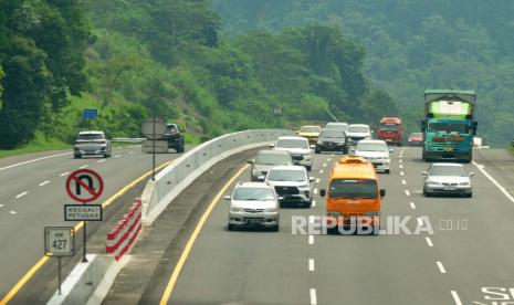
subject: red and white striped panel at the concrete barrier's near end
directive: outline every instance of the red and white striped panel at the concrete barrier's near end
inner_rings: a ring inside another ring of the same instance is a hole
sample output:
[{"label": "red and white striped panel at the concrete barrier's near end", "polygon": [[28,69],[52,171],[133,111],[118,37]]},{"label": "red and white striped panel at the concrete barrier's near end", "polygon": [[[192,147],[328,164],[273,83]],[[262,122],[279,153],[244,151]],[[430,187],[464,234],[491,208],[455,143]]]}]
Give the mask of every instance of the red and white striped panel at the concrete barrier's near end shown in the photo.
[{"label": "red and white striped panel at the concrete barrier's near end", "polygon": [[141,200],[136,199],[123,219],[107,233],[106,252],[114,254],[116,261],[128,252],[141,230]]}]

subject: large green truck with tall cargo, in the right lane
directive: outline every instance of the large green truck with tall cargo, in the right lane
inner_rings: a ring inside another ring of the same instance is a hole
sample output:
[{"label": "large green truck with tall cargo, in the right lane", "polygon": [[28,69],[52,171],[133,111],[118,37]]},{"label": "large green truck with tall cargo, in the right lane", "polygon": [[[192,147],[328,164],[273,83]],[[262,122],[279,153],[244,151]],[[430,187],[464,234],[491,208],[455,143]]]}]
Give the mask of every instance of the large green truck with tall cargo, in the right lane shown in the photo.
[{"label": "large green truck with tall cargo, in the right lane", "polygon": [[473,159],[475,105],[474,91],[424,91],[423,160],[470,162]]}]

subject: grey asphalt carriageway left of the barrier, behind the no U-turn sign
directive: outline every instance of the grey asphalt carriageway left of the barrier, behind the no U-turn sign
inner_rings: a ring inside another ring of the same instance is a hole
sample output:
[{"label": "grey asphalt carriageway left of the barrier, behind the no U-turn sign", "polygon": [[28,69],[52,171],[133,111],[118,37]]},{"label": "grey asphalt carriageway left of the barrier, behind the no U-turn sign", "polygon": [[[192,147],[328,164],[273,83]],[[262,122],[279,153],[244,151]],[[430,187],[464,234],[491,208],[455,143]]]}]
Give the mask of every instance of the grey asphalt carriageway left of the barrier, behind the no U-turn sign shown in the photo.
[{"label": "grey asphalt carriageway left of the barrier, behind the no U-turn sign", "polygon": [[[178,154],[157,155],[157,165]],[[151,169],[151,155],[140,146],[114,147],[111,158],[73,159],[71,150],[0,159],[0,299],[43,256],[43,229],[75,225],[65,222],[63,204],[74,203],[65,192],[70,172],[93,169],[104,179],[105,202]]]}]

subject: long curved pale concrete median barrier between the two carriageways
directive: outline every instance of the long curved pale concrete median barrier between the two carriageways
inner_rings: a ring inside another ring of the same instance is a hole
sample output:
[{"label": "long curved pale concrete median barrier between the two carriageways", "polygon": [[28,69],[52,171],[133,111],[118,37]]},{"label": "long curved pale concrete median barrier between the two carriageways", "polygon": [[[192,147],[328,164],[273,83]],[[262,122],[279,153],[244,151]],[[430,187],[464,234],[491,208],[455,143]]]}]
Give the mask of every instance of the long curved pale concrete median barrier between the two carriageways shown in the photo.
[{"label": "long curved pale concrete median barrier between the two carriageways", "polygon": [[224,135],[187,151],[149,180],[141,196],[143,222],[151,224],[185,188],[214,164],[240,151],[264,146],[289,129],[254,129]]}]

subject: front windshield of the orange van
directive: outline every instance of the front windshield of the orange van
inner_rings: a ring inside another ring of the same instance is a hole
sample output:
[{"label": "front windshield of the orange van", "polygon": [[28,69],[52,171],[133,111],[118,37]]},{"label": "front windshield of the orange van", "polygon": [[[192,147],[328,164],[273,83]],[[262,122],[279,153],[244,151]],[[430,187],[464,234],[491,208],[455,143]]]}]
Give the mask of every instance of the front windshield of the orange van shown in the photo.
[{"label": "front windshield of the orange van", "polygon": [[329,187],[332,198],[377,198],[377,182],[371,179],[335,179]]}]

